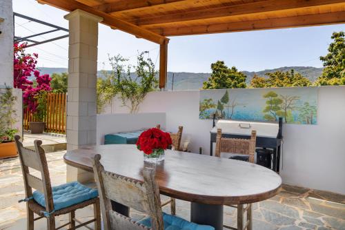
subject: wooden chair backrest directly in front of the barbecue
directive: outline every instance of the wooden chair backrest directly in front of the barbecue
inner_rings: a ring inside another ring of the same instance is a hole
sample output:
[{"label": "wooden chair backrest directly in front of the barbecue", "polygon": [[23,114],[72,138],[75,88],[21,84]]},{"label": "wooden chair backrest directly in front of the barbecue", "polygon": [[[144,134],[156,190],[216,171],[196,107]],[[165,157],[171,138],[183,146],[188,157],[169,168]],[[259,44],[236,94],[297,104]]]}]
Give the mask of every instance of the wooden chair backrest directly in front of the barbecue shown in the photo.
[{"label": "wooden chair backrest directly in front of the barbecue", "polygon": [[256,131],[252,131],[250,139],[221,137],[221,129],[218,128],[215,155],[216,157],[220,157],[221,153],[249,155],[249,162],[254,163],[256,139]]}]

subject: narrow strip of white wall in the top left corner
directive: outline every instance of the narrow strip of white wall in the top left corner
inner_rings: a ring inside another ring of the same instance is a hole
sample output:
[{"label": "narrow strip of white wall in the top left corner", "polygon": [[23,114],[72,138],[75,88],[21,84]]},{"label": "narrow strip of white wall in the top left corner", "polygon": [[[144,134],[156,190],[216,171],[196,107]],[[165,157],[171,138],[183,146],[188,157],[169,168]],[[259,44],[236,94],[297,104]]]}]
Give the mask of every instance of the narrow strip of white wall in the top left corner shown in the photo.
[{"label": "narrow strip of white wall in the top left corner", "polygon": [[[1,22],[1,19],[4,19]],[[12,0],[0,1],[0,88],[13,87],[13,10]]]}]

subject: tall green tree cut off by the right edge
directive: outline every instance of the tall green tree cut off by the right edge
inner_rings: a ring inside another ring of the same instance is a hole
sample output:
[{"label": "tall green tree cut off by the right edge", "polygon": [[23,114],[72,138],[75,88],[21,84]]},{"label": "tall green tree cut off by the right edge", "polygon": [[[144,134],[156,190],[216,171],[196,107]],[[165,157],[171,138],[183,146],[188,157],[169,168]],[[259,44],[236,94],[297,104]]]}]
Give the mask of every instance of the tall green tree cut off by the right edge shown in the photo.
[{"label": "tall green tree cut off by the right edge", "polygon": [[345,84],[345,35],[344,31],[333,32],[333,42],[328,54],[320,57],[324,62],[322,75],[316,80],[317,86],[339,86]]}]

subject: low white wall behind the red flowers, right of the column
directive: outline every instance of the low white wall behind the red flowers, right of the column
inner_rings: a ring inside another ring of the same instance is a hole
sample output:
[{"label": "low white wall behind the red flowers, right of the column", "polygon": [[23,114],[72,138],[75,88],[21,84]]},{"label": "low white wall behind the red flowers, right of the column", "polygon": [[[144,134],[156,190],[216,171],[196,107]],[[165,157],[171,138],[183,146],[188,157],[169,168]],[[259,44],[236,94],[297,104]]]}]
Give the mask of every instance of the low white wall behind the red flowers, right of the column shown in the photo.
[{"label": "low white wall behind the red flowers, right of the column", "polygon": [[165,113],[106,114],[97,115],[97,144],[104,143],[104,135],[126,131],[138,131],[143,128],[166,127]]}]

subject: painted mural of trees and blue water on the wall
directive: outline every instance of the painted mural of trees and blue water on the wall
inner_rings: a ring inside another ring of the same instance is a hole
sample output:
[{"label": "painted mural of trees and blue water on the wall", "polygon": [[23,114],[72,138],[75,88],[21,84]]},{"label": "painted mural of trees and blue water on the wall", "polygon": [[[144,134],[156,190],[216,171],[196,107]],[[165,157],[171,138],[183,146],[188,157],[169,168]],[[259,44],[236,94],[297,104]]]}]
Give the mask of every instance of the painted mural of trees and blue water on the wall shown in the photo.
[{"label": "painted mural of trees and blue water on the wall", "polygon": [[200,90],[199,119],[317,124],[317,87]]}]

